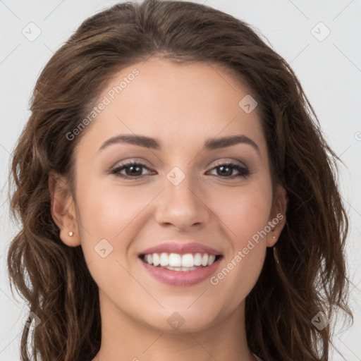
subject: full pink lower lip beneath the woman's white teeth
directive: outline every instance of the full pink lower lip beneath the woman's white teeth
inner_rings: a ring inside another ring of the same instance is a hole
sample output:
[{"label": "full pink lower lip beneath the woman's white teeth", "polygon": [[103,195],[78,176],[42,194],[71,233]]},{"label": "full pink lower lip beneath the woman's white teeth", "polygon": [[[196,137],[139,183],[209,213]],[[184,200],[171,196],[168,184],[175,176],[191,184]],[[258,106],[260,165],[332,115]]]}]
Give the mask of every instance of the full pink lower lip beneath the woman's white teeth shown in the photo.
[{"label": "full pink lower lip beneath the woman's white teeth", "polygon": [[139,260],[154,279],[171,286],[191,286],[212,276],[219,266],[221,259],[222,257],[219,257],[219,259],[210,266],[195,269],[193,271],[172,271],[171,269],[166,269],[164,267],[153,266],[142,261],[142,259]]}]

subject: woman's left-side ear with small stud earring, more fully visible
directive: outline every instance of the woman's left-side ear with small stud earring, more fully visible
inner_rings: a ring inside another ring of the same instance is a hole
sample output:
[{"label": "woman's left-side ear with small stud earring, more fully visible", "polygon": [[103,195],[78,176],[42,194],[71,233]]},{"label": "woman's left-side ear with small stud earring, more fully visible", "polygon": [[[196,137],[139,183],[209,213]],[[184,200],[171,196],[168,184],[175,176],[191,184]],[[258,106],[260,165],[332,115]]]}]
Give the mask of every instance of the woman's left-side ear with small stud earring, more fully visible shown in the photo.
[{"label": "woman's left-side ear with small stud earring, more fully visible", "polygon": [[[51,196],[51,216],[60,229],[60,238],[66,245],[80,245],[78,221],[76,221],[75,203],[71,188],[64,176],[49,173],[49,191]],[[69,235],[73,232],[73,235]]]}]

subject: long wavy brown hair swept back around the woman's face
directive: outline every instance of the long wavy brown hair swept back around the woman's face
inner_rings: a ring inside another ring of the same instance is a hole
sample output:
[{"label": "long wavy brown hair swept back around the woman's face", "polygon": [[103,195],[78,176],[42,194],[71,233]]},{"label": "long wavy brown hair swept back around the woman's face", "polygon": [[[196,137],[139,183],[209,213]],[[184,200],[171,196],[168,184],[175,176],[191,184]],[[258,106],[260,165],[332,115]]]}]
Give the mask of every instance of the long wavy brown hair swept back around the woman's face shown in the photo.
[{"label": "long wavy brown hair swept back around the woman's face", "polygon": [[[348,216],[338,192],[340,161],[288,63],[247,23],[209,6],[147,0],[116,4],[87,18],[44,67],[31,116],[12,158],[11,211],[22,228],[8,250],[8,273],[41,322],[24,326],[21,360],[90,360],[100,347],[97,284],[82,248],[59,238],[51,217],[49,173],[73,180],[78,126],[121,68],[159,54],[216,63],[252,89],[262,114],[273,185],[288,192],[286,226],[267,248],[246,300],[247,342],[264,361],[329,360],[331,324],[347,305],[344,246]],[[86,130],[85,130],[86,131]],[[11,285],[11,291],[13,292]]]}]

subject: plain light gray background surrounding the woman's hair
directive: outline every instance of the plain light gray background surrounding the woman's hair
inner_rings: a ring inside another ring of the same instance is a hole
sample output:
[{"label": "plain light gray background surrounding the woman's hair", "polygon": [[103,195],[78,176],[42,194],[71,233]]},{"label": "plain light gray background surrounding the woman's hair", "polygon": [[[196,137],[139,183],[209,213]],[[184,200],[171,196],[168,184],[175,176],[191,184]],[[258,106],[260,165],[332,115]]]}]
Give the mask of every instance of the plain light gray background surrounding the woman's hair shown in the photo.
[{"label": "plain light gray background surrounding the woman's hair", "polygon": [[[8,244],[16,233],[16,226],[9,223],[6,200],[9,155],[30,115],[32,88],[51,54],[82,20],[116,2],[0,0],[0,361],[20,360],[20,333],[26,311],[23,300],[11,297],[6,273]],[[345,163],[340,169],[340,183],[350,214],[348,266],[353,281],[350,300],[355,323],[336,334],[334,344],[344,358],[334,350],[331,360],[361,360],[361,1],[196,2],[245,20],[267,37],[298,75],[317,112],[326,140]],[[36,34],[34,25],[28,25],[30,22],[41,30],[32,42],[22,33]],[[317,25],[319,22],[331,31],[322,41],[319,39],[327,30]]]}]

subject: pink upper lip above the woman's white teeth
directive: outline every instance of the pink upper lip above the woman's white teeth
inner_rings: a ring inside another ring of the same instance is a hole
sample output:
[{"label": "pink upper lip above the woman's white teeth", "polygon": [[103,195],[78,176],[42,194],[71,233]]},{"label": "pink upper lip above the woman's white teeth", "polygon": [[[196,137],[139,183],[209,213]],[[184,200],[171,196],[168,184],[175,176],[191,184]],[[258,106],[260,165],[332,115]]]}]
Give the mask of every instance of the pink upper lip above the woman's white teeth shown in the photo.
[{"label": "pink upper lip above the woman's white teeth", "polygon": [[180,255],[185,255],[185,253],[207,253],[208,255],[221,255],[221,252],[215,250],[214,248],[208,247],[207,245],[202,245],[201,243],[189,242],[189,243],[176,243],[168,242],[155,245],[153,247],[147,248],[140,253],[140,255],[149,255],[151,253],[178,253]]}]

